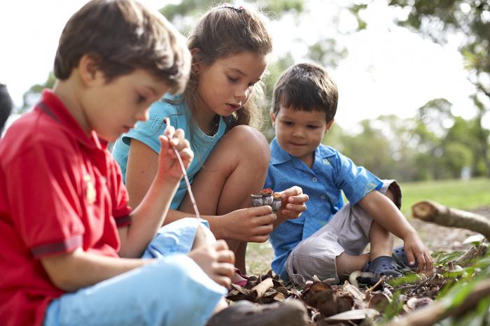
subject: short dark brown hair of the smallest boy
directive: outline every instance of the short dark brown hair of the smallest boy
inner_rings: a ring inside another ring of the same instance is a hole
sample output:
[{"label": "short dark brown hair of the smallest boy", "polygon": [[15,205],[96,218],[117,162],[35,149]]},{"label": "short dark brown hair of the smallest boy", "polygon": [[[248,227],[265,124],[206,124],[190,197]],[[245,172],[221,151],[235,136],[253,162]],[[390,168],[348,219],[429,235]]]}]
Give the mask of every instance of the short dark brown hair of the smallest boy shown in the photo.
[{"label": "short dark brown hair of the smallest boy", "polygon": [[324,111],[327,123],[337,112],[337,85],[323,66],[295,64],[284,71],[276,82],[272,95],[272,112],[281,106],[300,111]]}]

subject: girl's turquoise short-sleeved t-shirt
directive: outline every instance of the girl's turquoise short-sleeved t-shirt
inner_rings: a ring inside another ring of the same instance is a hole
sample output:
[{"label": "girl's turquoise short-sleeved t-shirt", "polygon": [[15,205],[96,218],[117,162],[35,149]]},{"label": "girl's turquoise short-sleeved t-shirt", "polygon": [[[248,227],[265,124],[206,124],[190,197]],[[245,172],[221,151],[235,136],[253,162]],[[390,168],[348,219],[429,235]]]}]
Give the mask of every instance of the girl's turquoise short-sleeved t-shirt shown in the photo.
[{"label": "girl's turquoise short-sleeved t-shirt", "polygon": [[[220,117],[218,132],[214,136],[208,136],[202,130],[195,125],[192,131],[191,141],[191,114],[188,106],[185,103],[181,103],[181,97],[165,96],[166,99],[176,101],[178,104],[170,104],[166,101],[157,101],[153,103],[150,107],[149,118],[146,122],[138,122],[134,129],[131,129],[127,134],[123,134],[114,144],[112,150],[112,155],[118,162],[121,171],[123,172],[123,178],[126,182],[126,168],[127,168],[127,157],[130,152],[131,139],[137,139],[142,143],[145,143],[149,148],[155,150],[156,153],[160,153],[160,141],[158,136],[163,134],[165,130],[165,123],[163,120],[165,118],[170,119],[170,125],[174,126],[175,129],[183,129],[186,134],[186,139],[190,142],[190,148],[194,152],[193,162],[190,163],[187,174],[190,183],[193,183],[194,177],[197,172],[200,171],[202,164],[207,160],[207,157],[213,150],[216,143],[221,139],[226,131],[226,124],[222,117]],[[172,199],[171,209],[177,209],[181,205],[183,198],[186,196],[187,187],[186,180],[182,178],[179,184],[179,189],[177,190],[174,198]]]}]

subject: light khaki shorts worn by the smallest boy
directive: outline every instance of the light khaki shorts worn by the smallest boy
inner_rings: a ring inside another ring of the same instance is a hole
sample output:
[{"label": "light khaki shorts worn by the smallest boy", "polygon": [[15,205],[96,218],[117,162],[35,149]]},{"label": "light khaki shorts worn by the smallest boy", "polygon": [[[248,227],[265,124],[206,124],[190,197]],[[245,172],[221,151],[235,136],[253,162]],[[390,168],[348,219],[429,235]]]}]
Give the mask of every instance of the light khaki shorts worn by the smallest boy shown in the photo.
[{"label": "light khaki shorts worn by the smallest boy", "polygon": [[[378,190],[386,194],[391,190],[395,205],[401,207],[402,193],[395,180],[384,180]],[[304,284],[314,275],[321,280],[335,278],[337,267],[335,258],[341,253],[360,255],[369,243],[372,217],[359,205],[344,205],[327,225],[304,239],[290,253],[286,260],[286,271],[291,281]]]}]

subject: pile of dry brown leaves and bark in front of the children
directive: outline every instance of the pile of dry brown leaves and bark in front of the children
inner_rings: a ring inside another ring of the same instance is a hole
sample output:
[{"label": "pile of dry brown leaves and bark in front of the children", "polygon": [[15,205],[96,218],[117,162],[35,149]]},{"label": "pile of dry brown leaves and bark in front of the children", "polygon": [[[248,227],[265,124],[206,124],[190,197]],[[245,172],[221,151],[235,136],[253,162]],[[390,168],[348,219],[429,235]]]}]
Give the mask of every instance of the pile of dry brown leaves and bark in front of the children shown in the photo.
[{"label": "pile of dry brown leaves and bark in front of the children", "polygon": [[315,277],[304,287],[295,288],[284,285],[278,275],[269,271],[265,275],[251,276],[244,287],[232,285],[227,299],[258,304],[299,299],[309,311],[311,325],[374,325],[382,320],[389,307],[400,306],[401,313],[407,313],[433,302],[435,295],[447,283],[442,274],[447,275],[448,272],[447,268],[437,267],[437,272],[430,277],[412,274],[409,283],[398,282],[393,286],[383,278],[372,288],[357,288],[349,281],[332,285],[332,279],[320,281]]}]

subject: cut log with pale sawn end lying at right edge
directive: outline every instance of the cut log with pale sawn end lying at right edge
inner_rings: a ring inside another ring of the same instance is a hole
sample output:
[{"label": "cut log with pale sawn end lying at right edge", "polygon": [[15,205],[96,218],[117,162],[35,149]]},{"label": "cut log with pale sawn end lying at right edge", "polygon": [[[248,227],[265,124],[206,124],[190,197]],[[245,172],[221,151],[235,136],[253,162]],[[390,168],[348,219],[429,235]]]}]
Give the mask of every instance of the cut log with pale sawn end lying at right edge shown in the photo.
[{"label": "cut log with pale sawn end lying at right edge", "polygon": [[412,215],[426,222],[433,222],[444,227],[461,227],[483,234],[490,239],[490,221],[488,218],[449,208],[435,201],[419,201],[412,206]]}]

